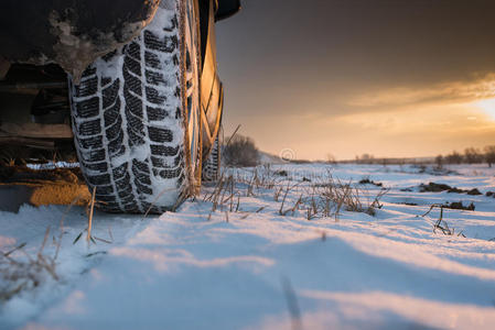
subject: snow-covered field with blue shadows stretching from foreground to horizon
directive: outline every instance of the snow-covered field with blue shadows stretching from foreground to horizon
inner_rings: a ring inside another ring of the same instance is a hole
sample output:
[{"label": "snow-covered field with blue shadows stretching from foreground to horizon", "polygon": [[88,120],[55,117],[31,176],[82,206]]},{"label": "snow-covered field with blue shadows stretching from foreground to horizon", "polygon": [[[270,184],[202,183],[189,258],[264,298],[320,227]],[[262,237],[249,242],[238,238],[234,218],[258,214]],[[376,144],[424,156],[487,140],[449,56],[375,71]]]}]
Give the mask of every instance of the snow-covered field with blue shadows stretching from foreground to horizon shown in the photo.
[{"label": "snow-covered field with blue shadows stretching from foreground to horizon", "polygon": [[0,329],[494,329],[495,169],[449,168],[228,172],[90,243],[80,207],[1,211]]}]

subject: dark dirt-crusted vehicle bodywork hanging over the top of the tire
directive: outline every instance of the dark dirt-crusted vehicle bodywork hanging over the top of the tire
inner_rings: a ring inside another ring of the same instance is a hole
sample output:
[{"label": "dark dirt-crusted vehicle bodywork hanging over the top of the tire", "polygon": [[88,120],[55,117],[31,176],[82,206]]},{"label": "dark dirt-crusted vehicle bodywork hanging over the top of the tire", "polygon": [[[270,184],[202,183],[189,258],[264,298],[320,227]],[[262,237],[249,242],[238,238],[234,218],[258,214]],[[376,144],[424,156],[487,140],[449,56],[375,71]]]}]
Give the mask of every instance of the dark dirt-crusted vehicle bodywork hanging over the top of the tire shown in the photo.
[{"label": "dark dirt-crusted vehicle bodywork hanging over the top of the tire", "polygon": [[2,0],[0,56],[35,65],[57,63],[77,80],[98,56],[139,34],[159,3],[159,0]]}]

